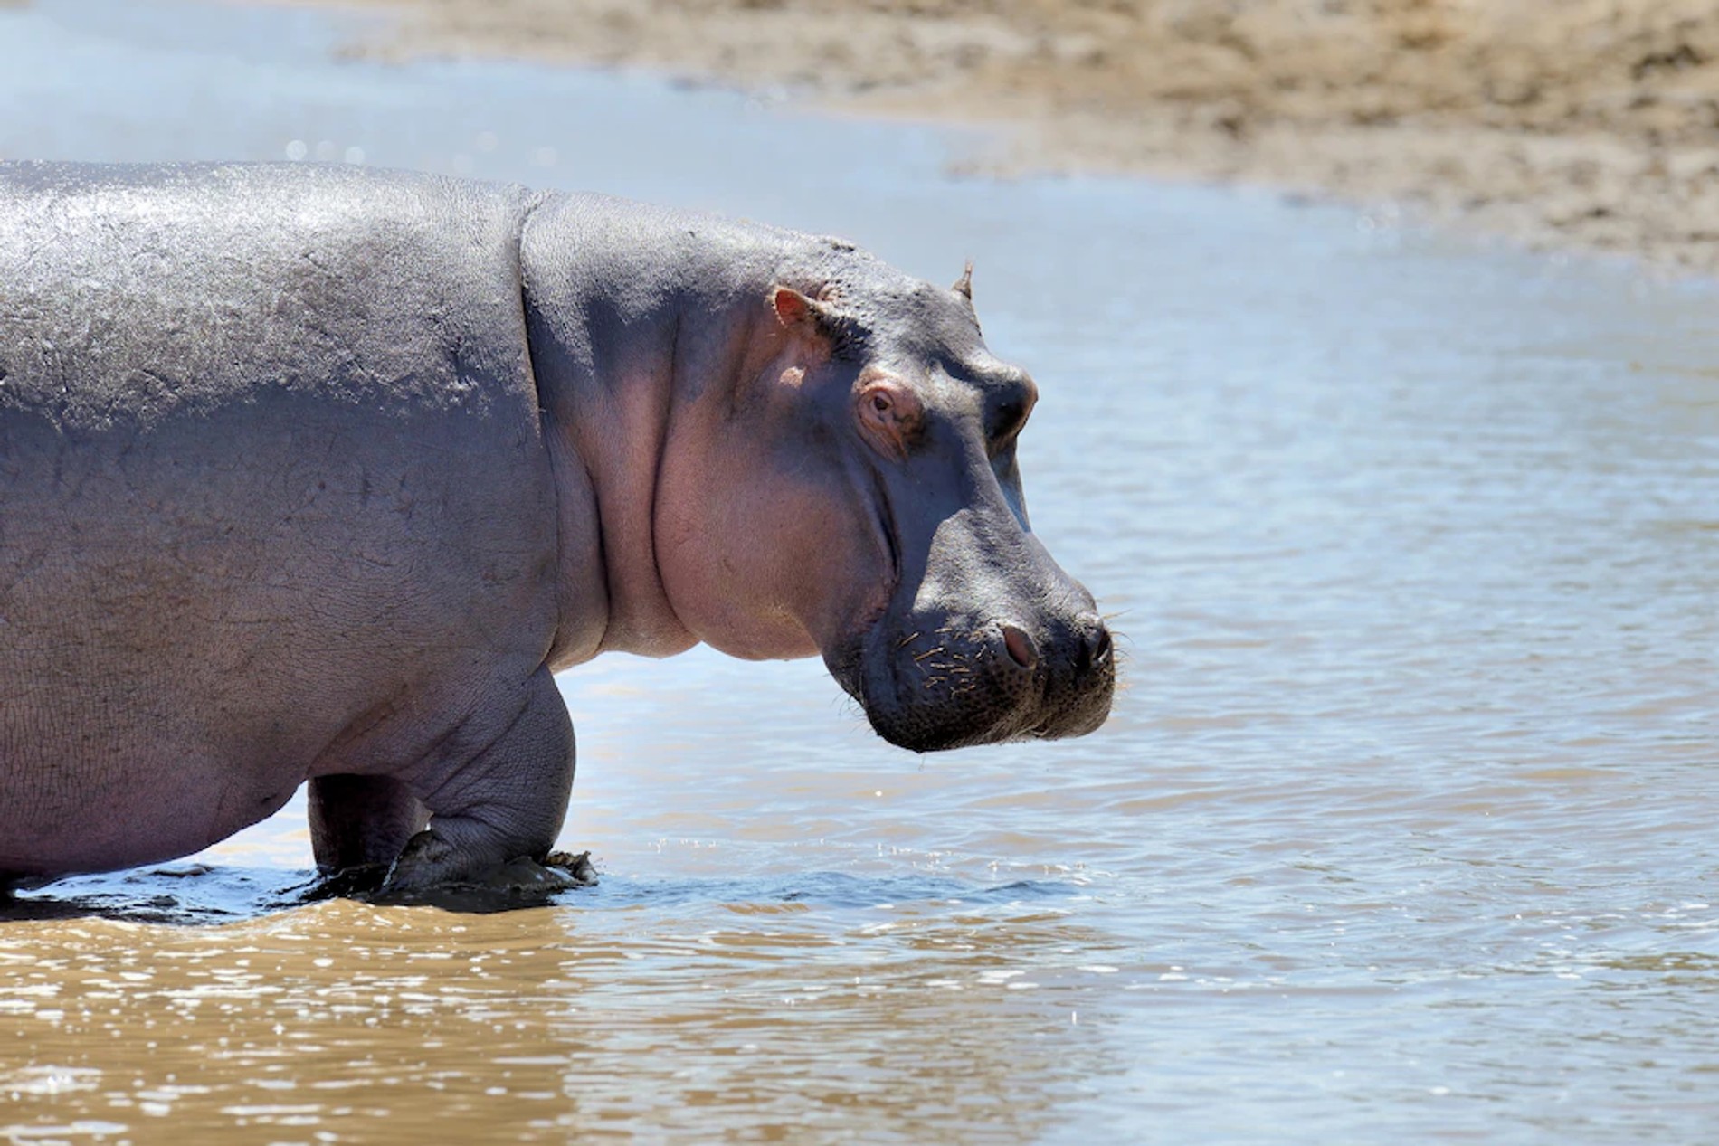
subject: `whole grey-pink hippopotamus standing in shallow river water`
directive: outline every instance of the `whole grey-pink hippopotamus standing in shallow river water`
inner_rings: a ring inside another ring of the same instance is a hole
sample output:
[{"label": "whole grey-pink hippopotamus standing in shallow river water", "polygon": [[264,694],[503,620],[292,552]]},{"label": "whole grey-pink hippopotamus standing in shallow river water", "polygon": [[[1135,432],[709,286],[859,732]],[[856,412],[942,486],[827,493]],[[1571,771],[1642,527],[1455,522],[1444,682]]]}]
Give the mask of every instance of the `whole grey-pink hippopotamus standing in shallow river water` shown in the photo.
[{"label": "whole grey-pink hippopotamus standing in shallow river water", "polygon": [[971,294],[603,196],[0,165],[0,885],[308,782],[323,873],[559,887],[605,651],[822,655],[918,753],[1092,732]]}]

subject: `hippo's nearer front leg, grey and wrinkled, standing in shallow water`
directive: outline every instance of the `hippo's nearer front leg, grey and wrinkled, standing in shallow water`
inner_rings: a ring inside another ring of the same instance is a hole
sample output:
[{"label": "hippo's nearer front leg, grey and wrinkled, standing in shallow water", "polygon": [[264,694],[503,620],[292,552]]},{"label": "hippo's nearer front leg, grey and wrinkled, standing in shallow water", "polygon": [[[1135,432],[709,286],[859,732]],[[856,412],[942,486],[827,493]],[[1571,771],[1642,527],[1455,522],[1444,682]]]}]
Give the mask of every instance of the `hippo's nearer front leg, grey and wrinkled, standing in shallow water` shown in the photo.
[{"label": "hippo's nearer front leg, grey and wrinkled, standing in shallow water", "polygon": [[547,667],[526,682],[524,703],[505,725],[468,722],[447,749],[407,777],[431,813],[430,826],[407,840],[382,899],[540,899],[584,881],[541,863],[572,794],[572,722]]}]

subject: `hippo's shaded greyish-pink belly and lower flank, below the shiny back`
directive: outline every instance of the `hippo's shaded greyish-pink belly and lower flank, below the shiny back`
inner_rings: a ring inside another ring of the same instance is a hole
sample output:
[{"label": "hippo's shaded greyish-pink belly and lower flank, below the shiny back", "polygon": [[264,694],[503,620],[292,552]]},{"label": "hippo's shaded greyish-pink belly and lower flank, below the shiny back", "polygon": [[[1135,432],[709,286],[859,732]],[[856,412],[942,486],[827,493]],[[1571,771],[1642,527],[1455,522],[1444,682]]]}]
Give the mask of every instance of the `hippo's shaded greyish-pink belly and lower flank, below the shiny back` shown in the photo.
[{"label": "hippo's shaded greyish-pink belly and lower flank, below the shiny back", "polygon": [[[282,412],[199,419],[170,447],[158,430],[150,445],[168,466],[119,440],[64,457],[14,419],[0,615],[21,636],[0,643],[12,682],[0,684],[0,871],[180,856],[268,816],[318,771],[413,759],[444,730],[413,723],[414,710],[476,703],[509,658],[499,644],[531,617],[547,624],[541,529],[474,538],[456,522],[500,519],[504,505],[390,464],[363,433],[318,433],[315,411],[296,412],[296,433],[339,460],[318,450],[234,481]],[[493,450],[430,454],[505,469]],[[512,469],[512,497],[529,502],[541,479]]]}]

